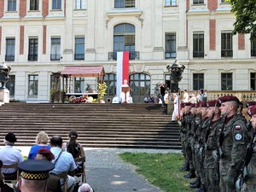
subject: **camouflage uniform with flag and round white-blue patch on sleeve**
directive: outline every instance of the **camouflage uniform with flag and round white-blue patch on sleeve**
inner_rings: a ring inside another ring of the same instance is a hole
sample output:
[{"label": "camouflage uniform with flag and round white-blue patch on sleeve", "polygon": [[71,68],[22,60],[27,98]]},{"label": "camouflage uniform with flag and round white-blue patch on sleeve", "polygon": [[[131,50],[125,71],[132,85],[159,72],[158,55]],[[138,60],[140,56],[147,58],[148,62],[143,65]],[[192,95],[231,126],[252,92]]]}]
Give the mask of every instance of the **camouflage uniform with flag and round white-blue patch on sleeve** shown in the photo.
[{"label": "camouflage uniform with flag and round white-blue patch on sleeve", "polygon": [[238,177],[247,143],[249,143],[249,137],[244,119],[234,114],[234,116],[227,119],[224,127],[224,142],[222,145],[224,158],[219,162],[219,187],[221,192],[236,191],[235,180],[234,184],[229,186],[228,179],[229,177]]}]

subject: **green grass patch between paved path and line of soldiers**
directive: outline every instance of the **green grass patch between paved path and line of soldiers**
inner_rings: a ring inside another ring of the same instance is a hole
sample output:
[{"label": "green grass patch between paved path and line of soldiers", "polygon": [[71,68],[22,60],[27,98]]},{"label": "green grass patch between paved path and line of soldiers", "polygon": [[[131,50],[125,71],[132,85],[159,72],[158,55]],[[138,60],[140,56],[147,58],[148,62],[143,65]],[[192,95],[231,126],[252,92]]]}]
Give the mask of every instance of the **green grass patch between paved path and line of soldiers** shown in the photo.
[{"label": "green grass patch between paved path and line of soldiers", "polygon": [[190,179],[184,178],[186,172],[180,172],[183,166],[182,154],[147,154],[130,153],[119,154],[126,162],[137,166],[136,172],[147,178],[149,183],[158,186],[165,192],[190,192]]}]

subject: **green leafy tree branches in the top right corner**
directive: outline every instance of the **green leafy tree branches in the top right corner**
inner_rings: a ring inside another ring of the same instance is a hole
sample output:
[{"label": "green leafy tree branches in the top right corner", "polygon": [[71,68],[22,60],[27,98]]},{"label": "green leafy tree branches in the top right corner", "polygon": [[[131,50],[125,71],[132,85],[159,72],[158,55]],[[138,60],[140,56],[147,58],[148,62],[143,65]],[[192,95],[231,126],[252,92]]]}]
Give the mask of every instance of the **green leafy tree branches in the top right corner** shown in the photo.
[{"label": "green leafy tree branches in the top right corner", "polygon": [[233,34],[251,34],[256,40],[256,3],[255,0],[229,0],[231,12],[236,15]]}]

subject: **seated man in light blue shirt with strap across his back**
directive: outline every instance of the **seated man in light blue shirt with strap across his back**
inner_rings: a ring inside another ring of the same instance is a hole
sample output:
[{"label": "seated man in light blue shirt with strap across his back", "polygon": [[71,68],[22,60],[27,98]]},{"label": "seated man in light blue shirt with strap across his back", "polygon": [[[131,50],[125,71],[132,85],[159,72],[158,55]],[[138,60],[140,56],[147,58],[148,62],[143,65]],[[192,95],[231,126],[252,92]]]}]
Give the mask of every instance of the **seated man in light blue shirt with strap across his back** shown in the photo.
[{"label": "seated man in light blue shirt with strap across his back", "polygon": [[[77,168],[72,154],[67,151],[62,151],[62,138],[60,136],[53,136],[50,139],[50,151],[55,155],[55,160],[52,162],[55,164],[55,168],[50,172],[55,175],[61,174],[61,172],[68,172],[70,175],[67,175],[67,191],[73,192],[73,186],[75,183],[73,175],[74,170]],[[61,179],[61,188],[63,191],[64,180]]]}]

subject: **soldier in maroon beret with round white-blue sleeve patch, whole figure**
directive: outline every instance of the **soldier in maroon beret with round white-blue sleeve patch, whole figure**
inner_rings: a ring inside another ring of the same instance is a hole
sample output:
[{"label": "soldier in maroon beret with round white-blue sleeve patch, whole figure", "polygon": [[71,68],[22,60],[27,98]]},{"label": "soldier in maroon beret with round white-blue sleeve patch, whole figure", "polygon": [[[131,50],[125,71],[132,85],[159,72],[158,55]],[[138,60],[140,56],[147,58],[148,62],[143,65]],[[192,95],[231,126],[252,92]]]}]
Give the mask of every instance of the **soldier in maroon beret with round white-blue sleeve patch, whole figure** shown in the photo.
[{"label": "soldier in maroon beret with round white-blue sleeve patch, whole figure", "polygon": [[218,102],[221,104],[221,115],[226,117],[222,130],[224,137],[220,137],[222,143],[219,146],[219,152],[222,152],[219,160],[219,187],[221,192],[233,192],[236,191],[235,180],[241,170],[249,136],[244,119],[237,114],[239,99],[236,96],[221,96]]}]

